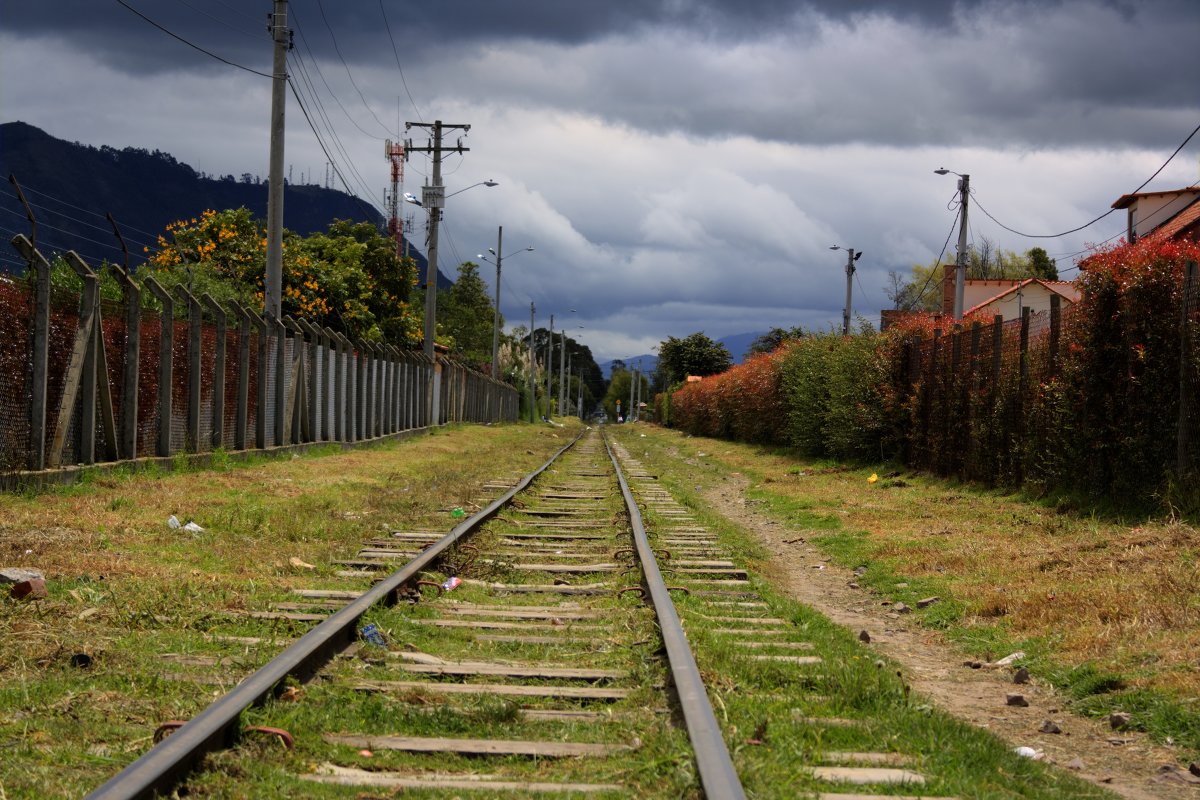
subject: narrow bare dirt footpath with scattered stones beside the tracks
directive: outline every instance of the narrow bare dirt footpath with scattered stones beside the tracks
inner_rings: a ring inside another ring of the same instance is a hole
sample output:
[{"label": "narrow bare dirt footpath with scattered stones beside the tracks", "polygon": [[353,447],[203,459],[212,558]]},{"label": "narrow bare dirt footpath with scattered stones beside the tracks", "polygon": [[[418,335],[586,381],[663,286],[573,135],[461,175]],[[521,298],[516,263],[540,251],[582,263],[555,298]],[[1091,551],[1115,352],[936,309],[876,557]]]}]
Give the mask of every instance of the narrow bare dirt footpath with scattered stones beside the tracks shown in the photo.
[{"label": "narrow bare dirt footpath with scattered stones beside the tracks", "polygon": [[[866,631],[869,646],[899,662],[912,687],[938,706],[1014,747],[1042,751],[1046,760],[1130,800],[1200,799],[1200,783],[1193,783],[1200,778],[1181,770],[1169,747],[1156,745],[1145,734],[1115,732],[1106,723],[1070,714],[1050,687],[1036,680],[1014,685],[1009,669],[964,666],[964,656],[936,631],[907,624],[884,603],[887,597],[850,585],[853,573],[829,564],[820,551],[798,539],[800,534],[749,507],[746,485],[746,479],[734,473],[706,499],[750,530],[774,555],[773,582],[839,625],[856,633]],[[1007,696],[1014,692],[1025,696],[1027,708],[1007,704]],[[1042,733],[1046,721],[1062,733]]]}]

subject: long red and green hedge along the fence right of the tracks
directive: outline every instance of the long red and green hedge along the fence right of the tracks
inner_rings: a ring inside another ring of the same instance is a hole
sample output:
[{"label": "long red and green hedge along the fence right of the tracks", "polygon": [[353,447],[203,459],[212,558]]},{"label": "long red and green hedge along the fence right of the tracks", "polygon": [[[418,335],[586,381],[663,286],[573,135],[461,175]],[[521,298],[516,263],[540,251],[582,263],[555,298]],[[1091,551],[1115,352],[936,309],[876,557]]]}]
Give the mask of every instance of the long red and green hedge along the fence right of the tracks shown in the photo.
[{"label": "long red and green hedge along the fence right of the tracks", "polygon": [[671,397],[678,427],[1007,488],[1174,503],[1200,471],[1200,245],[1099,251],[1074,306],[814,335]]}]

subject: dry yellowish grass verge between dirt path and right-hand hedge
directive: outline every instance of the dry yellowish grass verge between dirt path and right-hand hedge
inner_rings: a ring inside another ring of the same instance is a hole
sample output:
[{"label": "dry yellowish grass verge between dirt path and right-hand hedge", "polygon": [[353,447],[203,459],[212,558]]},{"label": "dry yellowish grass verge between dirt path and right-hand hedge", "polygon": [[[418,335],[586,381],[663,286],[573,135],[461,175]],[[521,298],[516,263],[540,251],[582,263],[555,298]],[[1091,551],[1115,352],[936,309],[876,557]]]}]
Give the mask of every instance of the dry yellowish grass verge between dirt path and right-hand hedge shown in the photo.
[{"label": "dry yellowish grass verge between dirt path and right-hand hedge", "polygon": [[[1016,650],[1079,712],[1200,756],[1200,534],[1175,519],[1112,519],[887,467],[847,468],[642,426],[635,455],[691,498],[731,476],[745,499],[916,608],[964,655]],[[680,470],[678,458],[686,462]],[[876,480],[871,481],[871,475]],[[974,796],[974,795],[972,795]]]}]

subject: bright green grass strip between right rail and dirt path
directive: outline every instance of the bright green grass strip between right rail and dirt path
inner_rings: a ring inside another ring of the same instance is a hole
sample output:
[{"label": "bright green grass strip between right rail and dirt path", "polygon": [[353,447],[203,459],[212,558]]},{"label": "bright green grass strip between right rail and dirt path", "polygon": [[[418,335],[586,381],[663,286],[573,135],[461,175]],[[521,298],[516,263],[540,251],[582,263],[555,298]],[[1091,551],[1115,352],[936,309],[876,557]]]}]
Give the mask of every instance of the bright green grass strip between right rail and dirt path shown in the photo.
[{"label": "bright green grass strip between right rail and dirt path", "polygon": [[[659,432],[635,440],[622,431],[619,438],[643,463],[652,465],[660,482],[690,509],[700,524],[719,534],[731,560],[748,565],[754,594],[767,603],[757,613],[790,622],[788,632],[779,640],[811,648],[766,646],[756,652],[816,655],[822,660],[818,664],[748,660],[737,639],[749,637],[719,632],[725,624],[714,618],[728,612],[714,610],[704,597],[677,597],[738,774],[751,796],[809,796],[810,792],[828,790],[828,786],[806,776],[803,766],[818,764],[826,753],[835,752],[907,757],[910,769],[928,781],[920,789],[923,796],[1046,800],[1111,796],[1062,770],[1020,758],[995,735],[935,709],[910,691],[895,663],[868,650],[850,631],[776,591],[769,578],[763,577],[772,572],[769,553],[746,531],[712,512],[702,497],[726,475],[713,469],[680,469],[673,458],[676,452],[682,455],[686,450],[686,458],[695,462],[697,452],[712,452],[708,447],[713,443],[684,444]],[[725,455],[718,452],[714,458],[724,459]],[[698,461],[712,467],[707,456]],[[748,473],[748,462],[739,462],[738,471]],[[812,509],[820,505],[804,499],[774,499],[769,492],[752,493],[748,500],[786,517],[790,524],[799,523],[798,530],[809,530]],[[646,518],[652,533],[666,522],[653,509],[646,511]],[[827,536],[838,539],[842,534]],[[853,545],[847,552],[853,554],[852,559],[863,554]],[[877,570],[872,579],[886,582],[892,577]],[[821,718],[841,723],[822,723]],[[913,794],[911,787],[877,787],[870,792]]]}]

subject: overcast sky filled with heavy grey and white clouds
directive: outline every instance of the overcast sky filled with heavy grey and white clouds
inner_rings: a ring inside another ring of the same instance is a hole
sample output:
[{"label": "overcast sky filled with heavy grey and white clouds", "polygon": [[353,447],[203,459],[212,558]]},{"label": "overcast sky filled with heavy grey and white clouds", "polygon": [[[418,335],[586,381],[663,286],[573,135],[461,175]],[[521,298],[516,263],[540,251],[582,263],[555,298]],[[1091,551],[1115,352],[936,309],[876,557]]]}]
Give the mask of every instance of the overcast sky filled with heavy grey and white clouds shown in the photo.
[{"label": "overcast sky filled with heavy grey and white clouds", "polygon": [[[127,0],[270,73],[268,0]],[[0,121],[268,173],[270,79],[116,0],[0,0]],[[440,265],[504,227],[510,324],[564,318],[598,359],[666,336],[877,324],[888,271],[942,253],[953,175],[970,239],[1043,246],[1064,277],[1109,210],[1200,125],[1195,0],[293,0],[289,74],[350,188],[383,207],[386,138],[469,124],[445,161]],[[313,96],[316,95],[316,96]],[[326,157],[288,97],[293,180]],[[329,133],[332,128],[332,136]],[[0,143],[2,146],[2,143]],[[1200,136],[1146,191],[1200,180]],[[414,154],[404,190],[430,163]],[[86,198],[74,198],[86,206]],[[97,209],[102,211],[103,209]],[[424,243],[424,212],[416,212]],[[284,210],[286,213],[286,210]],[[944,259],[953,260],[950,239]],[[494,270],[481,270],[491,283]],[[576,312],[569,313],[575,308]],[[577,326],[583,325],[583,330]]]}]

